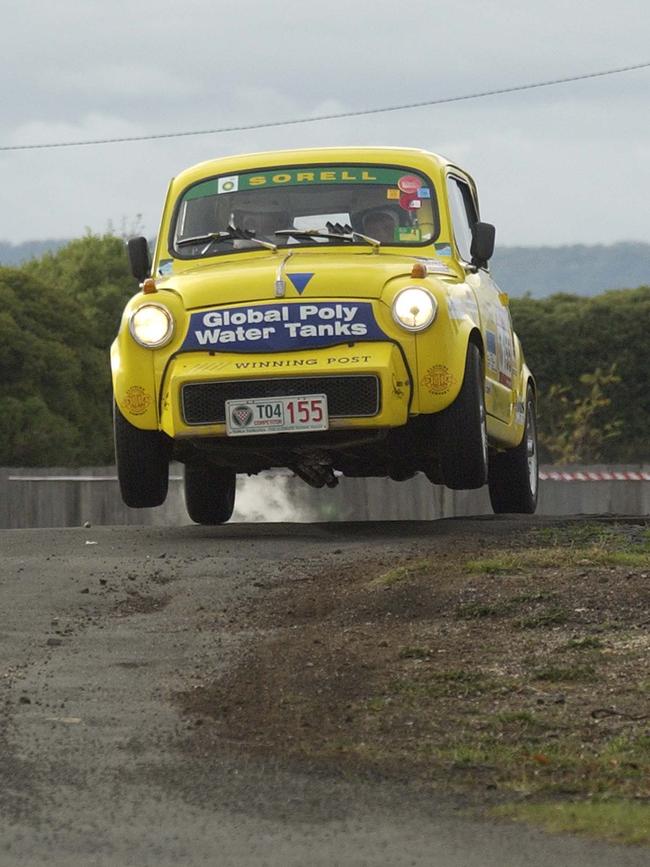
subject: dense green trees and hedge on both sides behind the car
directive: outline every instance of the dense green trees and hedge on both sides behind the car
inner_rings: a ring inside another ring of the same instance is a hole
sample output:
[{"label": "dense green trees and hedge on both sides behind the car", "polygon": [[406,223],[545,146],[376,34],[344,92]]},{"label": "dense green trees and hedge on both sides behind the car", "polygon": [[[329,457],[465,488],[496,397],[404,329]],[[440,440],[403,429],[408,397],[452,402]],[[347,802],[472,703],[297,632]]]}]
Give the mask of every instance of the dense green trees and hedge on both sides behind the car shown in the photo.
[{"label": "dense green trees and hedge on both sides behind the car", "polygon": [[[112,463],[108,351],[135,290],[112,234],[0,267],[0,466]],[[650,461],[650,287],[512,299],[511,313],[538,384],[541,457]]]}]

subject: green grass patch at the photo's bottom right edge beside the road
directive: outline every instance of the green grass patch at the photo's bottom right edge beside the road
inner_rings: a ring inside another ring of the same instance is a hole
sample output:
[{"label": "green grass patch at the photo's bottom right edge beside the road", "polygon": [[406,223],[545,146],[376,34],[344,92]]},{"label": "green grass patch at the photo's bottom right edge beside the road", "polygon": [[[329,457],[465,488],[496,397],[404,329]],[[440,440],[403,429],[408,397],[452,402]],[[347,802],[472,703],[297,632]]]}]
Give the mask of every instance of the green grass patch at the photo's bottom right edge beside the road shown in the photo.
[{"label": "green grass patch at the photo's bottom right edge beside the road", "polygon": [[500,818],[541,825],[551,833],[588,834],[613,843],[650,843],[650,804],[628,800],[504,804]]}]

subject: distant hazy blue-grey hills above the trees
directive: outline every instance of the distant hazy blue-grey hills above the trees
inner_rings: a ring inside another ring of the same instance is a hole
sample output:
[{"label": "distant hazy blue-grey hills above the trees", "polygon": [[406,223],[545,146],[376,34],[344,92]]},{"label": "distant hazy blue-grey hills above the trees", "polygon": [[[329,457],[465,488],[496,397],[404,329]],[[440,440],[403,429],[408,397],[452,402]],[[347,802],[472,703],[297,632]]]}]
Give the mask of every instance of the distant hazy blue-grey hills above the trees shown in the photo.
[{"label": "distant hazy blue-grey hills above the trees", "polygon": [[[20,265],[47,251],[58,250],[66,240],[0,241],[0,265]],[[598,295],[606,289],[650,285],[650,244],[573,244],[566,247],[498,247],[492,260],[492,276],[513,298],[527,292],[544,298],[556,292]]]}]

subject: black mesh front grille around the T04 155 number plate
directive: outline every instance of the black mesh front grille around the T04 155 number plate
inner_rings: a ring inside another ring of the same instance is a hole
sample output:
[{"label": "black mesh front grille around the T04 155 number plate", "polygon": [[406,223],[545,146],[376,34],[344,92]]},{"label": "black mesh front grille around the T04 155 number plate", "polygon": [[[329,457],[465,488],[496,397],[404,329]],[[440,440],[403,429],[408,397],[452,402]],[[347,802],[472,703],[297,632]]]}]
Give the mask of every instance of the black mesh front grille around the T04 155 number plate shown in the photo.
[{"label": "black mesh front grille around the T04 155 number plate", "polygon": [[326,394],[330,418],[372,416],[379,412],[376,376],[296,376],[282,379],[239,379],[195,382],[183,386],[181,401],[186,424],[223,424],[227,400]]}]

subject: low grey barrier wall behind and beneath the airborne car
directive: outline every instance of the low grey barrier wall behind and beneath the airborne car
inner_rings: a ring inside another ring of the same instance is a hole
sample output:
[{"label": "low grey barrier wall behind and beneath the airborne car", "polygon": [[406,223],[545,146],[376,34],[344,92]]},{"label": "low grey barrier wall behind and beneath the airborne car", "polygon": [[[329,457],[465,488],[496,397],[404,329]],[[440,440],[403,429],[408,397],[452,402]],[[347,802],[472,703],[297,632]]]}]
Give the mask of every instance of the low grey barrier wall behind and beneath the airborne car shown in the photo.
[{"label": "low grey barrier wall behind and beneath the airborne car", "polygon": [[[560,478],[540,482],[538,514],[650,515],[649,466],[542,467],[542,475]],[[276,474],[239,478],[233,519],[433,520],[491,513],[487,488],[450,491],[430,484],[422,475],[407,482],[342,478],[334,489],[313,490],[300,479]],[[0,528],[74,527],[86,521],[93,525],[190,523],[182,467],[172,466],[169,496],[157,509],[127,508],[114,467],[0,469]]]}]

